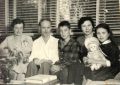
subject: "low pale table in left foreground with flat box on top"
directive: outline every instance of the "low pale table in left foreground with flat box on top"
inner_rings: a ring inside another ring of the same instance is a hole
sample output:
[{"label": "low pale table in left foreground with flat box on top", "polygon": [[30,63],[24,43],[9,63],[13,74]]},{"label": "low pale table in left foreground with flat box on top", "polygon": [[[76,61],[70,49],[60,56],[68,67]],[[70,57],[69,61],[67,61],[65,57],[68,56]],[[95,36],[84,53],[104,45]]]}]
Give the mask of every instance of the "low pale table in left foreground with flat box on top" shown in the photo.
[{"label": "low pale table in left foreground with flat box on top", "polygon": [[[41,82],[43,81],[43,82]],[[11,80],[10,83],[3,83],[0,80],[0,85],[56,85],[58,83],[57,77],[54,75],[35,75],[25,80]]]}]

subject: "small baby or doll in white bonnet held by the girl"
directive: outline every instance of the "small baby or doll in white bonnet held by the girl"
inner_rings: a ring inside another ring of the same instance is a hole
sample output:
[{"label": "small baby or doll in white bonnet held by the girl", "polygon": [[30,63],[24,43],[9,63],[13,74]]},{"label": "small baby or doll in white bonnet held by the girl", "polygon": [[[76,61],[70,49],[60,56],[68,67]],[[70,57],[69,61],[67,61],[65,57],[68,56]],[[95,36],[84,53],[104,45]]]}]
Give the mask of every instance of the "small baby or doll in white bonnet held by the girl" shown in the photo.
[{"label": "small baby or doll in white bonnet held by the girl", "polygon": [[107,66],[110,66],[110,62],[105,58],[105,54],[102,52],[102,50],[99,47],[100,43],[97,38],[91,37],[87,38],[85,40],[85,47],[88,50],[87,57],[89,59],[94,59],[96,62],[90,63],[90,68],[91,70],[98,70],[99,68],[102,67],[101,64],[98,64],[97,61],[106,61]]}]

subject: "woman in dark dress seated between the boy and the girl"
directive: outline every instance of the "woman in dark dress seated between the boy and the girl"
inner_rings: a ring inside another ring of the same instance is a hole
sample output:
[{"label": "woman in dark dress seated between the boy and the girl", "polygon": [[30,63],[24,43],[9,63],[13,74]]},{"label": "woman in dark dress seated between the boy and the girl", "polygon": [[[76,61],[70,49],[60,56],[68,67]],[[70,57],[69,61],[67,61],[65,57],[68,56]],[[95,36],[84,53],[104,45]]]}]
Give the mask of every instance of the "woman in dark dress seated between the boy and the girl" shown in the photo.
[{"label": "woman in dark dress seated between the boy and the girl", "polygon": [[[83,36],[79,36],[77,41],[79,42],[80,47],[80,60],[83,61],[84,58],[87,56],[87,49],[85,47],[85,39],[91,38],[94,36],[94,22],[91,17],[81,17],[78,21],[78,28],[83,32]],[[83,65],[84,68],[84,80],[83,83],[86,82],[86,79],[91,77],[90,68],[86,67],[85,64]]]}]

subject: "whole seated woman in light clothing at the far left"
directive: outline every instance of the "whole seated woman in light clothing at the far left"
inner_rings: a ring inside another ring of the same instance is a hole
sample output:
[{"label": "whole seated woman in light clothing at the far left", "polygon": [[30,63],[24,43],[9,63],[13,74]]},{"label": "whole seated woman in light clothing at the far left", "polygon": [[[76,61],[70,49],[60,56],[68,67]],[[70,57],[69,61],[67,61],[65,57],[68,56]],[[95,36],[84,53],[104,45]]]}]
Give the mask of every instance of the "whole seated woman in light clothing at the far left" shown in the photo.
[{"label": "whole seated woman in light clothing at the far left", "polygon": [[[14,61],[13,63],[13,79],[24,79],[23,76],[25,76],[23,73],[25,72],[25,64],[24,62],[27,62],[28,57],[30,55],[31,49],[32,49],[32,38],[26,35],[23,35],[23,28],[24,28],[24,21],[21,19],[14,19],[11,27],[13,28],[14,34],[11,36],[6,37],[6,39],[0,44],[0,49],[7,52],[7,58],[10,61]],[[22,61],[20,60],[20,58]],[[22,69],[22,70],[18,70]],[[18,72],[20,71],[20,72]],[[20,76],[15,77],[15,74],[22,74]]]}]

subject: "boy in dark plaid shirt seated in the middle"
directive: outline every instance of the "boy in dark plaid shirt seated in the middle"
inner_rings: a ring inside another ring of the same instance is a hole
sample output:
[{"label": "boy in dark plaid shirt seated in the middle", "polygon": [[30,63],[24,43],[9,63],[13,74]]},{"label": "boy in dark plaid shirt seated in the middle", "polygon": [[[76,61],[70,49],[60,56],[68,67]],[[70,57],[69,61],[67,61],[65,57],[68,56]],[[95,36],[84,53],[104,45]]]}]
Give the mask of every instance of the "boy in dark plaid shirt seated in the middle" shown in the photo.
[{"label": "boy in dark plaid shirt seated in the middle", "polygon": [[61,37],[58,41],[59,61],[52,70],[60,70],[58,78],[61,84],[82,85],[83,67],[79,61],[79,43],[70,36],[71,25],[68,21],[60,22],[58,29]]}]

